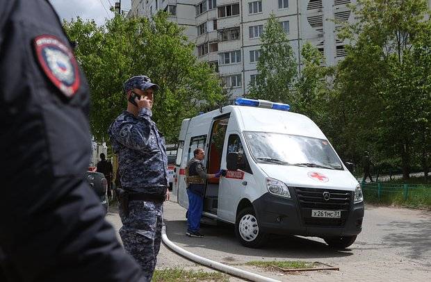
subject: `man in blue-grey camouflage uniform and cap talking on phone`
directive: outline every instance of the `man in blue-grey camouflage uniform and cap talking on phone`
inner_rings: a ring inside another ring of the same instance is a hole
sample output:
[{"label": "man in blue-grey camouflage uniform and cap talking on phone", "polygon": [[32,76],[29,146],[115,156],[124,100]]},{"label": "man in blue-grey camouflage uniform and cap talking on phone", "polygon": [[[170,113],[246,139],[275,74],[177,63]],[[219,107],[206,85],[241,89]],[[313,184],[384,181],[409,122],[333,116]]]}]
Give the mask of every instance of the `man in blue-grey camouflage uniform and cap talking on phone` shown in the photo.
[{"label": "man in blue-grey camouflage uniform and cap talking on phone", "polygon": [[168,192],[168,157],[165,140],[152,121],[154,90],[147,76],[133,76],[124,83],[127,110],[108,129],[118,156],[124,249],[135,258],[151,281],[160,249],[163,201]]}]

